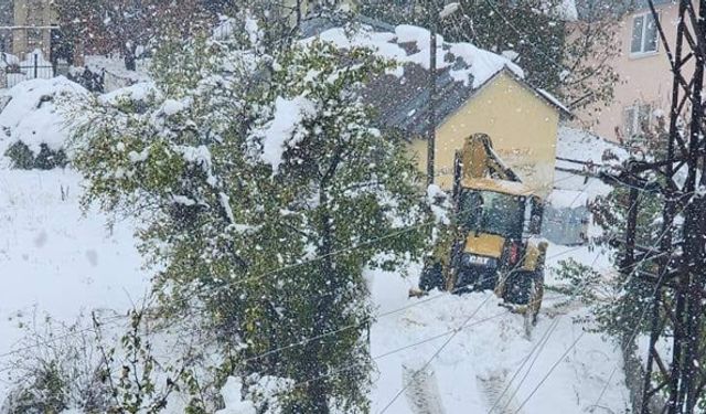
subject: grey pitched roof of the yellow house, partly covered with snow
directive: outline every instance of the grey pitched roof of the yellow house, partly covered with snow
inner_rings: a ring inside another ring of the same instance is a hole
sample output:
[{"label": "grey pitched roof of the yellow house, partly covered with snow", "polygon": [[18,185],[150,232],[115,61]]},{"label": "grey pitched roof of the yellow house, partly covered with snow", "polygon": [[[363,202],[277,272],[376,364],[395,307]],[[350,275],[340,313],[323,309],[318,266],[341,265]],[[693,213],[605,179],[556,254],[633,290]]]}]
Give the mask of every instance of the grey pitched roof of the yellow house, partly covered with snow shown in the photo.
[{"label": "grey pitched roof of the yellow house, partly covered with snow", "polygon": [[[381,127],[403,130],[413,136],[422,135],[428,128],[429,31],[415,25],[393,26],[375,21],[347,26],[335,24],[330,21],[310,24],[307,28],[309,36],[301,42],[309,44],[319,39],[332,42],[340,49],[366,47],[377,56],[397,62],[398,65],[388,74],[366,84],[363,99],[378,113]],[[510,59],[471,43],[449,43],[437,35],[436,53],[437,93],[443,97],[438,99],[436,107],[439,123],[443,123],[475,91],[501,72],[507,72],[524,83],[524,72]],[[547,96],[538,93],[537,96],[553,104]]]}]

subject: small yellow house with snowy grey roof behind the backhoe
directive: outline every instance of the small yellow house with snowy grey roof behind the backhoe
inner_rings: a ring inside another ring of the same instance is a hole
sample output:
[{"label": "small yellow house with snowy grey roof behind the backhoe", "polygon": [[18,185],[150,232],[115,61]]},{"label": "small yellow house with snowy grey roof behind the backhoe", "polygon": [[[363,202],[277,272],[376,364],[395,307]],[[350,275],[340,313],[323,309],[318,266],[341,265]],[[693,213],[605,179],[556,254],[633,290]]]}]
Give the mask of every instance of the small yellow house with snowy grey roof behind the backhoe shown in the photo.
[{"label": "small yellow house with snowy grey roof behind the backhoe", "polygon": [[[382,129],[407,140],[419,169],[427,171],[430,34],[413,25],[388,25],[362,18],[357,29],[329,28],[320,40],[342,49],[364,46],[397,67],[370,82],[363,96],[377,112]],[[437,39],[435,182],[450,190],[456,151],[466,137],[488,134],[495,152],[536,193],[554,187],[559,120],[569,112],[548,93],[524,81],[509,59],[470,43]]]}]

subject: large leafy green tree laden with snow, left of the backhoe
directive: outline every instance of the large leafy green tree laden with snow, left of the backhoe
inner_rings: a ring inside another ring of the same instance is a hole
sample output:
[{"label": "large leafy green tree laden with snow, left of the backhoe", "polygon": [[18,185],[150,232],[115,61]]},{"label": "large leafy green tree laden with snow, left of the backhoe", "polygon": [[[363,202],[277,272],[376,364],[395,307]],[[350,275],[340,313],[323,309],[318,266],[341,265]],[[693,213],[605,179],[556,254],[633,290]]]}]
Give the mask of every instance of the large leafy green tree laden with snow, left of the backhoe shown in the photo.
[{"label": "large leafy green tree laden with snow, left of the backhoe", "polygon": [[232,23],[242,38],[165,45],[153,89],[77,109],[85,202],[146,217],[162,304],[208,316],[225,376],[292,380],[286,413],[365,412],[363,269],[426,242],[416,167],[357,95],[388,64],[319,42],[265,53],[249,18]]}]

